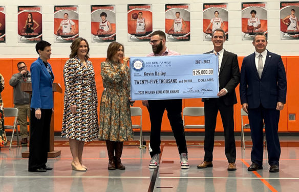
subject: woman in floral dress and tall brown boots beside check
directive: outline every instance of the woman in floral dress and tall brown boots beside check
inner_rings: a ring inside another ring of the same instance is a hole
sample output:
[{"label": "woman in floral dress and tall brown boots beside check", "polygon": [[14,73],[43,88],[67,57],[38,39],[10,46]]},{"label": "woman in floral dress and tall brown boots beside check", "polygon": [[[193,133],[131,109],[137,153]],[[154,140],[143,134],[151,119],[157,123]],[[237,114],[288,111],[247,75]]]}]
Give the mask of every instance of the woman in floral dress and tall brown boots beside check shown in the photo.
[{"label": "woman in floral dress and tall brown boots beside check", "polygon": [[134,101],[130,98],[130,71],[126,66],[129,59],[123,59],[123,52],[123,45],[112,42],[106,61],[101,63],[104,90],[100,104],[99,140],[106,141],[108,170],[125,169],[120,160],[123,141],[133,140],[130,104]]}]

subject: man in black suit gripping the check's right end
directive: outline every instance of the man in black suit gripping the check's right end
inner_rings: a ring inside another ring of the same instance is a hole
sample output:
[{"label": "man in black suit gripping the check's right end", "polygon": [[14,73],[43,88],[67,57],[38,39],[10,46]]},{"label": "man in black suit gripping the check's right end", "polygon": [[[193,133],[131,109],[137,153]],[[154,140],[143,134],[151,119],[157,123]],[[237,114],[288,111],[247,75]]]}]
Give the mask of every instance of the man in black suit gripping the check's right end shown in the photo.
[{"label": "man in black suit gripping the check's right end", "polygon": [[233,105],[237,103],[236,91],[240,82],[238,56],[223,49],[225,32],[216,29],[212,33],[213,51],[219,60],[219,98],[203,99],[205,113],[204,161],[197,168],[212,167],[215,128],[218,111],[220,111],[225,141],[225,156],[228,161],[227,170],[237,170],[236,143],[234,141]]}]

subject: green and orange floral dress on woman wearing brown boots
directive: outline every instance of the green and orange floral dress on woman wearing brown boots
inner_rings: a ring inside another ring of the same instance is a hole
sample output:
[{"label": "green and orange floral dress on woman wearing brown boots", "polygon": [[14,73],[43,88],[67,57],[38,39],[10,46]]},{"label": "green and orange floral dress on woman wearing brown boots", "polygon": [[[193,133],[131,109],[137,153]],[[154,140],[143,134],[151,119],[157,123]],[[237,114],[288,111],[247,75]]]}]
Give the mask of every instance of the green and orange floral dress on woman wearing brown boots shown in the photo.
[{"label": "green and orange floral dress on woman wearing brown boots", "polygon": [[121,63],[102,62],[103,94],[100,103],[99,140],[133,140],[130,109],[130,71]]}]

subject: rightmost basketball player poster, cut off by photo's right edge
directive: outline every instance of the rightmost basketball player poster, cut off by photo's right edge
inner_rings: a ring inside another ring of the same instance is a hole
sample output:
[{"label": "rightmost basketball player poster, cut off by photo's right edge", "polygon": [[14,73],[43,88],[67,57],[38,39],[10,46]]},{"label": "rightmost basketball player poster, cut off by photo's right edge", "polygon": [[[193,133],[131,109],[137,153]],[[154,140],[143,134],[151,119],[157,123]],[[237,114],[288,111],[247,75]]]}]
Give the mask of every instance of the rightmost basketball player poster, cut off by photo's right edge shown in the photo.
[{"label": "rightmost basketball player poster, cut off by photo's right edge", "polygon": [[281,39],[299,39],[299,2],[281,2]]}]

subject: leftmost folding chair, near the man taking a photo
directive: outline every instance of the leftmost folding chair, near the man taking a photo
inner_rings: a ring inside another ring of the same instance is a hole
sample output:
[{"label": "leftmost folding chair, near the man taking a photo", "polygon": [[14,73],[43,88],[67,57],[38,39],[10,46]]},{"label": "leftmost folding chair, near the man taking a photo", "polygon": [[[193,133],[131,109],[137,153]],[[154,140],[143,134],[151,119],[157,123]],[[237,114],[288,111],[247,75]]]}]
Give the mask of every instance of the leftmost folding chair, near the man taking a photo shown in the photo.
[{"label": "leftmost folding chair, near the man taking a photo", "polygon": [[[4,118],[14,117],[13,125],[4,125],[5,129],[12,129],[12,135],[11,135],[9,149],[11,148],[11,146],[20,146],[19,138],[18,138],[17,123],[16,123],[18,109],[17,108],[4,108],[3,111],[4,111]],[[4,122],[6,122],[6,121],[4,121]],[[16,130],[17,145],[11,145],[15,130]]]}]

